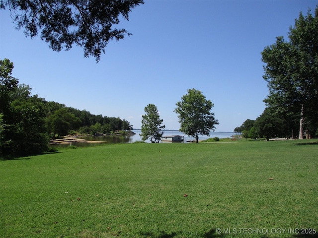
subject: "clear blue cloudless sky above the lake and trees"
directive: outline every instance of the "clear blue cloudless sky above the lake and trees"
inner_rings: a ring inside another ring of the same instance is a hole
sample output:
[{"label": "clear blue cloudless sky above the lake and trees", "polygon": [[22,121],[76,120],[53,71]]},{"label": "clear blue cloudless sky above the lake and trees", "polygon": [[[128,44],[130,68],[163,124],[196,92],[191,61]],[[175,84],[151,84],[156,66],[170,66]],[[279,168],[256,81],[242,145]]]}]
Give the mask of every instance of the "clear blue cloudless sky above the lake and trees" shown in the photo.
[{"label": "clear blue cloudless sky above the lake and trees", "polygon": [[318,0],[145,0],[125,28],[132,36],[106,47],[96,63],[81,48],[53,52],[36,37],[15,30],[0,11],[0,59],[14,63],[12,75],[32,94],[95,115],[119,117],[141,128],[152,103],[167,129],[178,129],[173,112],[187,89],[214,103],[216,131],[233,131],[265,109],[261,52],[277,36],[286,40],[302,11]]}]

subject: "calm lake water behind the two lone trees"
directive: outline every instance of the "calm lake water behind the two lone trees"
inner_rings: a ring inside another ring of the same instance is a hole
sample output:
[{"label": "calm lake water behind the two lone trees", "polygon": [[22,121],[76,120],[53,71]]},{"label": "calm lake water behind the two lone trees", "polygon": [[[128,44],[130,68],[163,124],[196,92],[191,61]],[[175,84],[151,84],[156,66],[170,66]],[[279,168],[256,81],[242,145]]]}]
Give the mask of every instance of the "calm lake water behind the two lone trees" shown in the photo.
[{"label": "calm lake water behind the two lone trees", "polygon": [[[82,137],[85,140],[97,140],[97,141],[107,141],[110,144],[114,144],[114,143],[133,143],[135,141],[141,141],[141,137],[140,137],[140,133],[141,130],[133,130],[133,132],[135,132],[135,135],[126,135],[126,136],[117,136],[117,135],[107,135],[107,136],[87,136],[87,137]],[[206,136],[206,135],[199,135],[199,140],[205,140],[208,138],[213,138],[213,137],[219,137],[219,138],[228,138],[233,135],[235,135],[235,132],[211,132],[210,136]],[[183,135],[184,136],[184,141],[192,141],[195,140],[194,137],[189,137],[185,134],[183,134],[180,131],[174,131],[174,130],[165,130],[163,132],[163,135]],[[151,143],[150,140],[146,140],[145,142],[147,143]],[[74,143],[74,145],[76,145]]]}]

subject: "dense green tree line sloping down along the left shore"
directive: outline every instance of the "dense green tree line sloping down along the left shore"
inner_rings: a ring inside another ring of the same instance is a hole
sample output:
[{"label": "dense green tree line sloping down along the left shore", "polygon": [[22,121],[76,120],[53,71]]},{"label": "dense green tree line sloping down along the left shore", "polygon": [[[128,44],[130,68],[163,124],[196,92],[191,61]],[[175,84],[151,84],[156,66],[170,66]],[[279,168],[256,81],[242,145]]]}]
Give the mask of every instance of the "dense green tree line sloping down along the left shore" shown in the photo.
[{"label": "dense green tree line sloping down along the left shore", "polygon": [[31,95],[31,87],[11,76],[13,63],[0,60],[0,156],[9,158],[42,153],[50,138],[72,132],[111,133],[132,130],[129,121],[93,115],[86,110],[48,102]]}]

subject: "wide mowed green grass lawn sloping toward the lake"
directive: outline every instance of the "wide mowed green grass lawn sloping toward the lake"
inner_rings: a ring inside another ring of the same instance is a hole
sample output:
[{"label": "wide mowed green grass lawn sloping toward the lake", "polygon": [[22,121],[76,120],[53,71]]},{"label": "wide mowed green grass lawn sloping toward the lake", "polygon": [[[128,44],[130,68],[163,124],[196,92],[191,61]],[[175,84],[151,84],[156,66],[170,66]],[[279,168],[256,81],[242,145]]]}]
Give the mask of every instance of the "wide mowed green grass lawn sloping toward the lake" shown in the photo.
[{"label": "wide mowed green grass lawn sloping toward the lake", "polygon": [[318,232],[318,140],[114,144],[1,161],[0,216],[1,238],[302,237]]}]

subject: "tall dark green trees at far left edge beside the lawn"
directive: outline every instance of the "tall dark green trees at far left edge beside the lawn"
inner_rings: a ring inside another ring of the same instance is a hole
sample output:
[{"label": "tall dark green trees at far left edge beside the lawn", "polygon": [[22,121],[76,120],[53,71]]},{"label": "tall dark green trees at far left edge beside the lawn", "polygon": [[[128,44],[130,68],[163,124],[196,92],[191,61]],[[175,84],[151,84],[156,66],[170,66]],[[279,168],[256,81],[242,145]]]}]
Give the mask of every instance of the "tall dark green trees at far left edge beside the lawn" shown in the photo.
[{"label": "tall dark green trees at far left edge beside the lawn", "polygon": [[49,137],[45,128],[43,99],[11,76],[13,63],[0,60],[0,155],[11,158],[42,153]]}]

